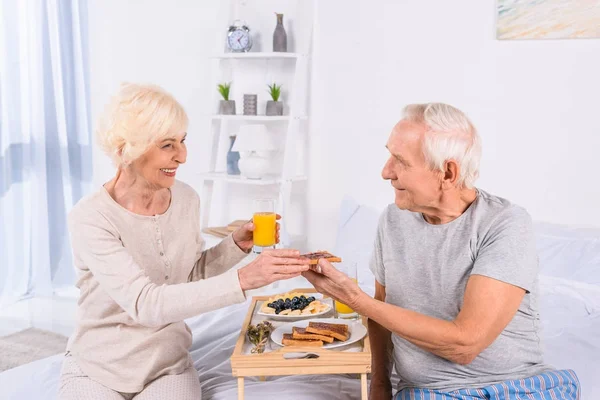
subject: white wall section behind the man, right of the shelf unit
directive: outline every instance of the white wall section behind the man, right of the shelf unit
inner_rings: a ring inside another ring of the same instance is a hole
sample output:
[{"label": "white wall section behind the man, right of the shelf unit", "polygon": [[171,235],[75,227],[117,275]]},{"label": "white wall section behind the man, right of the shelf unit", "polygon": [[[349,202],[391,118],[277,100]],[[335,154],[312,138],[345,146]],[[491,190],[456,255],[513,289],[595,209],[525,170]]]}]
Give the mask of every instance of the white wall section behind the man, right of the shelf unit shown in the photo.
[{"label": "white wall section behind the man, right of the shelf unit", "polygon": [[600,40],[497,41],[492,0],[329,0],[319,11],[312,245],[333,243],[344,193],[393,201],[384,145],[412,102],[467,112],[483,140],[482,189],[535,219],[600,225]]}]

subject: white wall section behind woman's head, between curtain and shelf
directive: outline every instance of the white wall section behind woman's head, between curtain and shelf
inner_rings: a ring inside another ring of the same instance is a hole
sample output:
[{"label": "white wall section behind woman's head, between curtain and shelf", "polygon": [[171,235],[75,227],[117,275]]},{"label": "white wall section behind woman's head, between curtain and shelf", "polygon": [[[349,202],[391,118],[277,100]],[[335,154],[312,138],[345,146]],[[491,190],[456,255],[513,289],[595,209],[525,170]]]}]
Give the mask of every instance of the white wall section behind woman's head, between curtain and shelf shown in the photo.
[{"label": "white wall section behind woman's head, between curtain and shelf", "polygon": [[[176,4],[176,7],[171,4]],[[97,122],[104,105],[121,82],[153,83],[170,91],[190,114],[190,132],[201,132],[214,90],[206,79],[214,50],[217,1],[91,0],[90,65],[92,118]],[[199,134],[188,144],[201,153],[189,157],[188,177],[207,151]],[[185,169],[183,174],[186,173]],[[96,147],[94,184],[112,178],[109,159]]]}]

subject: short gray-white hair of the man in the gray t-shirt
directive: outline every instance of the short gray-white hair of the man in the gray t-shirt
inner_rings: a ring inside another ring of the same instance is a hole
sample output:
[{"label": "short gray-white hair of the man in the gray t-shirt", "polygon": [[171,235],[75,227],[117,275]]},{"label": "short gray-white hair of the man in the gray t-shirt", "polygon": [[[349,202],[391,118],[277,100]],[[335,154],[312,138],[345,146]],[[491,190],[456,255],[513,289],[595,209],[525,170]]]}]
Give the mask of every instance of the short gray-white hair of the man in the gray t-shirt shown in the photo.
[{"label": "short gray-white hair of the man in the gray t-shirt", "polygon": [[403,114],[403,119],[427,127],[423,154],[429,167],[443,172],[445,162],[454,160],[460,166],[459,186],[473,188],[479,177],[481,139],[469,118],[443,103],[409,104]]}]

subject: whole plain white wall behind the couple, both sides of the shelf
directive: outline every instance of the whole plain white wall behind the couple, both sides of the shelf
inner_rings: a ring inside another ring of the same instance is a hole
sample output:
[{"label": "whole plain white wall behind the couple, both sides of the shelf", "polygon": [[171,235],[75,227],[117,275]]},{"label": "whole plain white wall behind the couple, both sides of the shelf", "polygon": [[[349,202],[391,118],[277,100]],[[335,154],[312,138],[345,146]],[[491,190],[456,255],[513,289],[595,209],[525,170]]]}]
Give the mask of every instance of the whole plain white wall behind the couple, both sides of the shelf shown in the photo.
[{"label": "whole plain white wall behind the couple, both sides of the shelf", "polygon": [[[266,14],[274,11],[273,2],[265,4]],[[525,206],[538,220],[600,225],[592,162],[600,148],[599,40],[497,41],[493,0],[318,5],[311,248],[333,245],[344,194],[377,207],[393,200],[380,178],[384,145],[401,108],[411,102],[443,101],[467,112],[483,139],[481,188]],[[208,135],[200,116],[211,107],[205,71],[216,9],[217,1],[193,0],[90,4],[94,118],[120,81],[166,87],[186,107],[190,131],[197,133],[189,140],[194,157],[187,171],[206,159]],[[112,168],[95,155],[95,182],[101,184]],[[193,174],[182,177],[193,180]]]}]

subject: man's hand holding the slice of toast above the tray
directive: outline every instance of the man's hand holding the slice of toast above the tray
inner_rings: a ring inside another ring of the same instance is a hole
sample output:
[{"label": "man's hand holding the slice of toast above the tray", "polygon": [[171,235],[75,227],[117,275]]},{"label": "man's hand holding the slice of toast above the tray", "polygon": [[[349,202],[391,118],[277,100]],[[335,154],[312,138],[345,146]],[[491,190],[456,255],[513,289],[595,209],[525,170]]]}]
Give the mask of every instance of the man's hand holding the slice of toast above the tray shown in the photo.
[{"label": "man's hand holding the slice of toast above the tray", "polygon": [[320,259],[319,263],[302,275],[320,292],[334,300],[347,304],[353,310],[359,304],[362,296],[367,296],[360,290],[356,282],[350,279],[346,274],[335,269],[331,263],[325,259]]}]

